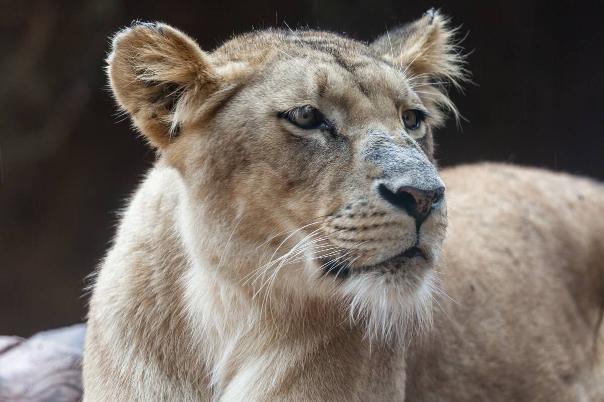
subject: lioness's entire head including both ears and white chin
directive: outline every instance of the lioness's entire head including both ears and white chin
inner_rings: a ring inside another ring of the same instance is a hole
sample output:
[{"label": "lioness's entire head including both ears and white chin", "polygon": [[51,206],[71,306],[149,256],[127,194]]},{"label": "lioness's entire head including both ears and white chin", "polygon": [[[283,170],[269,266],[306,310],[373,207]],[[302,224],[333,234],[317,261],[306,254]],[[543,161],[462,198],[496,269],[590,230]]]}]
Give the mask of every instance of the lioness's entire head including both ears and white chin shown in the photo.
[{"label": "lioness's entire head including both ears and white chin", "polygon": [[189,232],[238,239],[231,277],[364,314],[426,308],[446,229],[432,128],[452,108],[434,81],[463,72],[440,16],[390,35],[265,31],[212,54],[165,25],[114,40],[116,98],[181,172]]}]

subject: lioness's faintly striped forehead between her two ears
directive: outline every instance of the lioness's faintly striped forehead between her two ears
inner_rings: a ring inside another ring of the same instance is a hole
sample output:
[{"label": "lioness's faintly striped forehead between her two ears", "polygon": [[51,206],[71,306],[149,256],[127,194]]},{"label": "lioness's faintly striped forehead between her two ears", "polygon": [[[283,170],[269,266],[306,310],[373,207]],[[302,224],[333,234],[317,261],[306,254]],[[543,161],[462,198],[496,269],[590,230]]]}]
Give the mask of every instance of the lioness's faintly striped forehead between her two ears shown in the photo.
[{"label": "lioness's faintly striped forehead between her two ears", "polygon": [[259,71],[272,67],[275,75],[288,81],[283,88],[293,89],[296,83],[301,84],[298,89],[306,93],[298,95],[318,92],[341,101],[362,95],[367,100],[389,98],[395,102],[410,97],[399,66],[388,63],[364,43],[339,34],[312,30],[257,31],[234,37],[214,55],[220,61],[243,62]]}]

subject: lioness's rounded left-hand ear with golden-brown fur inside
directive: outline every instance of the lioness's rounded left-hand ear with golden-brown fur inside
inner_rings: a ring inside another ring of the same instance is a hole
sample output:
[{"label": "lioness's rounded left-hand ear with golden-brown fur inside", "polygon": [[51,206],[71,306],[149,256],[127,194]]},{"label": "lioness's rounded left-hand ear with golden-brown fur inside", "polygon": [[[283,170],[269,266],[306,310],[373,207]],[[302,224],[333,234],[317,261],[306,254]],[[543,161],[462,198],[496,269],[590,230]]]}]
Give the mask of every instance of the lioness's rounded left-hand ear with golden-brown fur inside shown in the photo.
[{"label": "lioness's rounded left-hand ear with golden-brown fur inside", "polygon": [[165,24],[135,22],[118,33],[108,57],[121,108],[156,148],[169,145],[220,84],[211,56]]}]

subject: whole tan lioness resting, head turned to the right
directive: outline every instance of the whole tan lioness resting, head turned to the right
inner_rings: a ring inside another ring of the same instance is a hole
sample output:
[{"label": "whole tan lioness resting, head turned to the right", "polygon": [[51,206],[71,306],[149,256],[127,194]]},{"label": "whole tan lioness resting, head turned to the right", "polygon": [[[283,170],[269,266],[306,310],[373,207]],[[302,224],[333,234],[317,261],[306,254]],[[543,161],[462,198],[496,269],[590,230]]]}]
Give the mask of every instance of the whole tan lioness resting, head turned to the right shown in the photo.
[{"label": "whole tan lioness resting, head turned to the right", "polygon": [[84,400],[601,401],[604,189],[439,175],[454,33],[118,33],[111,87],[159,158],[98,272]]}]

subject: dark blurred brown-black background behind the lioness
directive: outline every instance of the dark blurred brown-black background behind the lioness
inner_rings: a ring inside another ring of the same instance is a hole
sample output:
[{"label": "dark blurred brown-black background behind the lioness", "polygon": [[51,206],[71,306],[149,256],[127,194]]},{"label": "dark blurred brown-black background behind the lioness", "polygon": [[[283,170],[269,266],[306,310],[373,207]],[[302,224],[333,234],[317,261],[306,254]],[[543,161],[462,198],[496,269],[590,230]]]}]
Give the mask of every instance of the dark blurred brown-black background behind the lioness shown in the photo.
[{"label": "dark blurred brown-black background behind the lioness", "polygon": [[509,161],[604,179],[604,23],[590,4],[0,1],[0,334],[82,321],[84,278],[153,161],[106,91],[112,33],[161,20],[211,50],[285,20],[367,41],[432,6],[469,32],[478,84],[452,94],[469,122],[437,133],[442,164]]}]

